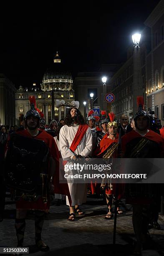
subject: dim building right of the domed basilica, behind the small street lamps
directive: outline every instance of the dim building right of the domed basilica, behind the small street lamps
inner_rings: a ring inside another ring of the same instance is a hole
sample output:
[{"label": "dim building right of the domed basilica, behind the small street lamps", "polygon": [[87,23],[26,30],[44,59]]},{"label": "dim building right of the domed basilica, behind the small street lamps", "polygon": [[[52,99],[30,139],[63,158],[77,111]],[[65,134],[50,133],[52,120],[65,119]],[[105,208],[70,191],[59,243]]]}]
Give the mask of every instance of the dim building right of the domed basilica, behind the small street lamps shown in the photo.
[{"label": "dim building right of the domed basilica, behind the small street lamps", "polygon": [[[105,95],[111,92],[109,84],[110,77],[114,75],[118,69],[118,65],[110,64],[103,65],[99,72],[79,72],[75,77],[74,86],[76,93],[76,100],[80,102],[79,109],[81,113],[84,113],[83,102],[86,102],[86,114],[91,110],[91,96],[93,93],[93,108],[99,108],[101,110],[111,111],[111,103],[105,101]],[[104,87],[102,77],[106,76],[106,85]]]}]

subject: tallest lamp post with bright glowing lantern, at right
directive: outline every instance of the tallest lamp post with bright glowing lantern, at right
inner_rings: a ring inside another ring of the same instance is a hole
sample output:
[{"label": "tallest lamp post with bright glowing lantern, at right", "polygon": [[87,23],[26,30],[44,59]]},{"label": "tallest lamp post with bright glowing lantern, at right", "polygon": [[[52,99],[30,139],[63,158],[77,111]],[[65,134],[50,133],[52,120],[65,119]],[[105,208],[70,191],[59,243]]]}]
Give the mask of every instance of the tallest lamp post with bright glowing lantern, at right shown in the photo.
[{"label": "tallest lamp post with bright glowing lantern, at right", "polygon": [[134,43],[134,63],[133,63],[133,115],[138,111],[136,102],[137,96],[143,95],[143,88],[141,82],[141,49],[139,47],[141,34],[136,33],[132,35]]}]

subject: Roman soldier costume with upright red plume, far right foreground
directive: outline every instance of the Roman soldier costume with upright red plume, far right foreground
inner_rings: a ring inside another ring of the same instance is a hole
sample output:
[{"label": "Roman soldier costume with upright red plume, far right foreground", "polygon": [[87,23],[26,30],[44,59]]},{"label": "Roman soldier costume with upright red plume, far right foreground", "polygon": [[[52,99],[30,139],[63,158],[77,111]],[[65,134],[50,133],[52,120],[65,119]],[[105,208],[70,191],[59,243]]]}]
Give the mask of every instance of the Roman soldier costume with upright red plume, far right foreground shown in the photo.
[{"label": "Roman soldier costume with upright red plume, far right foreground", "polygon": [[[139,110],[134,118],[136,130],[125,134],[121,138],[121,157],[163,157],[164,140],[159,134],[149,130],[149,115],[144,111],[143,97],[137,97],[137,103]],[[161,195],[159,190],[159,184],[126,184],[126,202],[133,205],[132,220],[134,233],[136,235],[136,248],[134,252],[136,254],[138,253],[137,255],[141,253],[143,239],[145,241],[147,239],[149,224],[148,216],[150,216],[153,208],[157,207],[156,198]]]}]

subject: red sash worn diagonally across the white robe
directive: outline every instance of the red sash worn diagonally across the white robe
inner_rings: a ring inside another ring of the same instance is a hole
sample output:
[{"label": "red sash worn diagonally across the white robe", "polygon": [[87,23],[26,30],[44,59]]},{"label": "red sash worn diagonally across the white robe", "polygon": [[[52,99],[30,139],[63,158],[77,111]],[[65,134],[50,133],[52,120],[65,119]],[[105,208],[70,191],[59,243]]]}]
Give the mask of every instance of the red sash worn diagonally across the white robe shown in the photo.
[{"label": "red sash worn diagonally across the white robe", "polygon": [[70,146],[70,149],[72,152],[75,152],[78,144],[81,142],[81,140],[87,130],[88,130],[88,125],[80,125],[78,127],[78,131],[77,131],[75,138],[73,139],[71,146]]}]

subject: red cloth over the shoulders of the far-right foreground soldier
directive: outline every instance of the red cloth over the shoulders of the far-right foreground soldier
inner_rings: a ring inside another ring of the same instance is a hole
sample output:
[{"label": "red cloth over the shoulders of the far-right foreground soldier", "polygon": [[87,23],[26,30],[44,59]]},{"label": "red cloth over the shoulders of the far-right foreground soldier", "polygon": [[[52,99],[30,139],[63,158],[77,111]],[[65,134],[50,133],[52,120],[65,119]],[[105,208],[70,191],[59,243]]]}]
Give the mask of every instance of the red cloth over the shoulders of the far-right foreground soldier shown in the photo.
[{"label": "red cloth over the shoulders of the far-right foreground soldier", "polygon": [[[141,137],[142,136],[134,130],[129,133],[126,133],[121,138],[121,151],[122,152],[126,151],[126,144],[129,143],[129,141],[131,141],[134,138],[141,138]],[[158,143],[159,146],[161,147],[161,156],[159,157],[164,157],[164,139],[158,133],[155,133],[154,131],[151,131],[151,130],[148,133],[146,133],[144,137]]]}]

